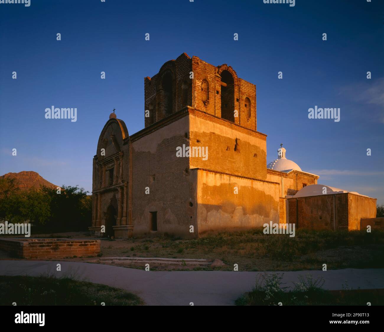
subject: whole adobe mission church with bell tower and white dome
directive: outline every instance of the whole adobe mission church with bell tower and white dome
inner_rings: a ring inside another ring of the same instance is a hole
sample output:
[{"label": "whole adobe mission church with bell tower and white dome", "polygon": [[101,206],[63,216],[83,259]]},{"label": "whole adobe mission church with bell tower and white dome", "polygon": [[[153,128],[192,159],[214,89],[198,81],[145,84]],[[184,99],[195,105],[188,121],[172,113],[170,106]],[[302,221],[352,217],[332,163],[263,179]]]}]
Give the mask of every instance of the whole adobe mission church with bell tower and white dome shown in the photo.
[{"label": "whole adobe mission church with bell tower and white dome", "polygon": [[[256,86],[231,66],[183,53],[144,78],[144,102],[144,129],[129,135],[111,113],[99,136],[96,236],[196,238],[270,221],[351,230],[376,216],[376,199],[318,184],[283,147],[267,165]],[[177,155],[185,147],[206,155]]]}]

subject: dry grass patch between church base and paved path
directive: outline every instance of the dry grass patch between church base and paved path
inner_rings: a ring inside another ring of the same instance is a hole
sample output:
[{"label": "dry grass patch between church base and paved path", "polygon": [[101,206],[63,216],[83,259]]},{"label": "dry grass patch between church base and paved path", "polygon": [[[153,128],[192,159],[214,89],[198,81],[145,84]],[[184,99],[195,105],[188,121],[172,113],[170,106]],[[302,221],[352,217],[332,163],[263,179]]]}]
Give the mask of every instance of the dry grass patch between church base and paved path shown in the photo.
[{"label": "dry grass patch between church base and paved path", "polygon": [[[227,266],[215,270],[288,271],[384,267],[384,232],[315,231],[297,229],[295,237],[263,234],[263,228],[238,232],[207,234],[199,239],[153,237],[113,242],[108,249],[101,243],[104,257],[126,256],[133,250],[137,257],[220,259]],[[111,242],[110,242],[111,243]]]}]

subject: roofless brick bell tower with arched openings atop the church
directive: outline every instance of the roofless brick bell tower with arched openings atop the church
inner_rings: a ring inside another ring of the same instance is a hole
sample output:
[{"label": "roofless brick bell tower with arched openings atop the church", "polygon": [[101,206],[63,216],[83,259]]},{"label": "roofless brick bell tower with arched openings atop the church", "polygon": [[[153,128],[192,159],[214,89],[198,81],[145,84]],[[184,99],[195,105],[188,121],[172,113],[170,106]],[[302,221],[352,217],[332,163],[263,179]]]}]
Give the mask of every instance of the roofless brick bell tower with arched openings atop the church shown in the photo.
[{"label": "roofless brick bell tower with arched openings atop the church", "polygon": [[257,130],[256,86],[227,64],[214,66],[182,53],[144,78],[145,127],[188,107]]}]

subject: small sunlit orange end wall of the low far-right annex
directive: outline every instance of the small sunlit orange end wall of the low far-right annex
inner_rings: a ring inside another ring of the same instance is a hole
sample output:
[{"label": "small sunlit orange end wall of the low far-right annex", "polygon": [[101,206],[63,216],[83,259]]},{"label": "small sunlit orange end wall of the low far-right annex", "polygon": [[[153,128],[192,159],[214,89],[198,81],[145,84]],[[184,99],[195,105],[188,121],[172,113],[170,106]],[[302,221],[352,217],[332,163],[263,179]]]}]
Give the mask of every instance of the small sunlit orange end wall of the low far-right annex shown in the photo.
[{"label": "small sunlit orange end wall of the low far-right annex", "polygon": [[376,198],[348,193],[348,229],[360,229],[360,219],[376,217]]}]

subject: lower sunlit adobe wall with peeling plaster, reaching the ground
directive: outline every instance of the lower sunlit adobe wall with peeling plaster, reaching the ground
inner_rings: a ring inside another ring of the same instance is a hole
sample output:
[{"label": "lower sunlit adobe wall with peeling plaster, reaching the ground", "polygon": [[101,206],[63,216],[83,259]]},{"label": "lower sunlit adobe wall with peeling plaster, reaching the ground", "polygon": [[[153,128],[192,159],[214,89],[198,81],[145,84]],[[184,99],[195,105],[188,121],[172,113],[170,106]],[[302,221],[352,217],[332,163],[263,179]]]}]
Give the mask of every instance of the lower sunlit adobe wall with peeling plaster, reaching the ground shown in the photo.
[{"label": "lower sunlit adobe wall with peeling plaster, reaching the ground", "polygon": [[[240,230],[279,221],[278,183],[193,169],[198,232]],[[234,193],[238,188],[238,194]]]}]

